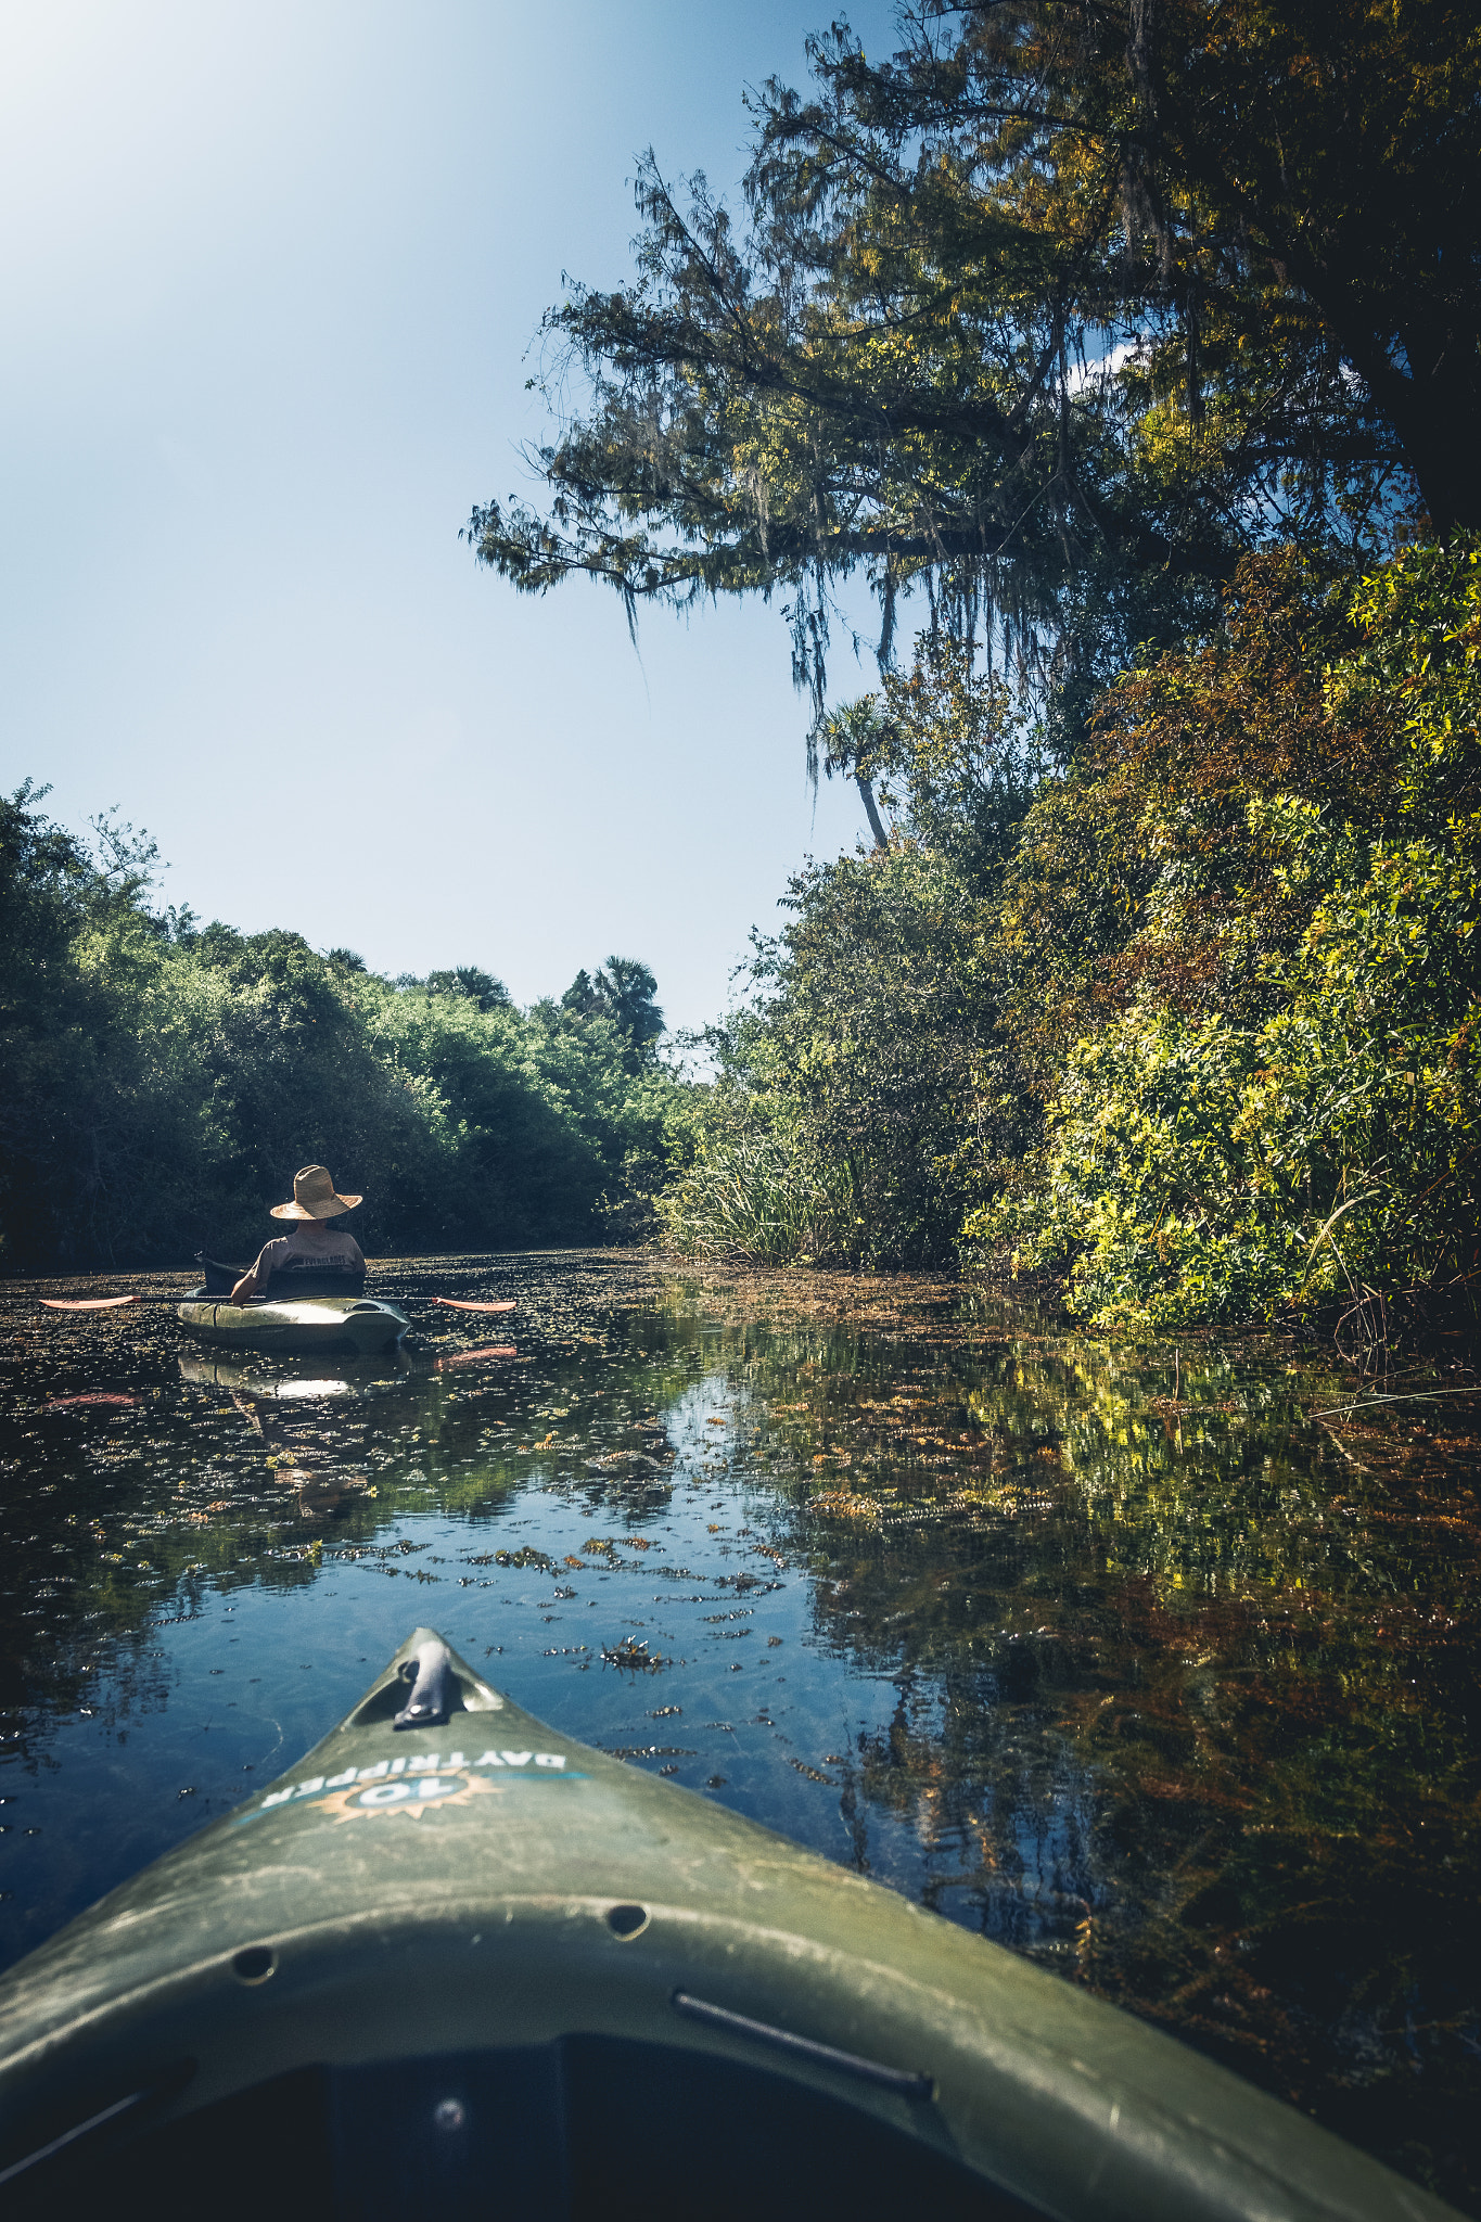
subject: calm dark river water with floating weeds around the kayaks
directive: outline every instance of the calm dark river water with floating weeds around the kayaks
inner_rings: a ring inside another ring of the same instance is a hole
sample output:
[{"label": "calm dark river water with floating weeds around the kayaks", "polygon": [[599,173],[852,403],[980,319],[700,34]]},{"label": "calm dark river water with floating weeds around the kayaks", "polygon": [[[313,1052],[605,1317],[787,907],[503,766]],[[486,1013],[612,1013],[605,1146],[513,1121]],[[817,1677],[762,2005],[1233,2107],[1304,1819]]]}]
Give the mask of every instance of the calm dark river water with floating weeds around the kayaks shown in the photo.
[{"label": "calm dark river water with floating weeds around the kayaks", "polygon": [[400,1364],[215,1362],[164,1307],[4,1284],[0,1962],[426,1622],[1481,2206],[1472,1373],[1370,1404],[1272,1344],[615,1253],[373,1289]]}]

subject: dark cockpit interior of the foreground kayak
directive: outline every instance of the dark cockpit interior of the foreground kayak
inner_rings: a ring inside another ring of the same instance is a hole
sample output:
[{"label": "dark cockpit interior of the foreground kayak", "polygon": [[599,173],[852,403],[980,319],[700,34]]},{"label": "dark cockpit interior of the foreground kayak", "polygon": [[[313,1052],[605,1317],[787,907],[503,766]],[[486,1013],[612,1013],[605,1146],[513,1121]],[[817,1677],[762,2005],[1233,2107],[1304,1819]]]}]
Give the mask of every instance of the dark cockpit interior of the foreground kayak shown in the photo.
[{"label": "dark cockpit interior of the foreground kayak", "polygon": [[298,2069],[98,2142],[11,2211],[160,2222],[198,2211],[171,2191],[209,2186],[211,2222],[1041,2222],[961,2166],[928,2102],[910,2133],[777,2071],[611,2035]]}]

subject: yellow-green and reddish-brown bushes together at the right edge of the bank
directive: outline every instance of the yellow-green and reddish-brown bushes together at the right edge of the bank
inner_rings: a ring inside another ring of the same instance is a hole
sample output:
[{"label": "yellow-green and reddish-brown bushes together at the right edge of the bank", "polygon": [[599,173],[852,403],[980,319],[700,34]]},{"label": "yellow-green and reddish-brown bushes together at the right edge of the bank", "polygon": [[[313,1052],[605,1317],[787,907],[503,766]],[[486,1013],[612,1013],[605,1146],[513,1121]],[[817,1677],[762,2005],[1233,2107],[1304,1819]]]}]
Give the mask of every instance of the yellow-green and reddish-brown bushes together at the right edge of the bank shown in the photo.
[{"label": "yellow-green and reddish-brown bushes together at the right edge of the bank", "polygon": [[[1088,1315],[1170,1327],[1474,1284],[1474,578],[1465,547],[1414,549],[1332,604],[1346,640],[1310,602],[1301,622],[1299,595],[1275,633],[1239,620],[1128,682],[1101,775],[1059,798],[1086,833],[1119,818],[1092,853],[1130,900],[1117,915],[1101,895],[1108,940],[1059,967],[1041,1169],[968,1231],[1068,1271]],[[1263,644],[1281,633],[1292,684],[1272,693]],[[1150,775],[1179,771],[1181,787]],[[1044,922],[1017,871],[1028,969]],[[1057,915],[1095,920],[1068,880],[1039,869],[1037,887]],[[1097,993],[1101,1011],[1121,1002],[1099,1027]]]}]

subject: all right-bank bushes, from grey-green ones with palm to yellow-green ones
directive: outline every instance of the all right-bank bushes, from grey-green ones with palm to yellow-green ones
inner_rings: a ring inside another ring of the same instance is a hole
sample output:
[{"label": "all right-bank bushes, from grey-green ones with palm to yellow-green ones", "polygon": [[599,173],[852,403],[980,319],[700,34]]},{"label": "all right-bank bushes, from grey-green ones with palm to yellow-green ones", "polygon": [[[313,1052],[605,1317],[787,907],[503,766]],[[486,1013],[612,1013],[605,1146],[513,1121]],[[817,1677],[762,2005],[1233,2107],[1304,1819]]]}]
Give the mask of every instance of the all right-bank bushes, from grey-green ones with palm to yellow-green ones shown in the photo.
[{"label": "all right-bank bushes, from grey-green ones with palm to yellow-green ones", "polygon": [[924,642],[826,727],[886,840],[757,944],[671,1240],[964,1251],[1101,1324],[1474,1313],[1479,733],[1474,540],[1248,558],[1068,773]]}]

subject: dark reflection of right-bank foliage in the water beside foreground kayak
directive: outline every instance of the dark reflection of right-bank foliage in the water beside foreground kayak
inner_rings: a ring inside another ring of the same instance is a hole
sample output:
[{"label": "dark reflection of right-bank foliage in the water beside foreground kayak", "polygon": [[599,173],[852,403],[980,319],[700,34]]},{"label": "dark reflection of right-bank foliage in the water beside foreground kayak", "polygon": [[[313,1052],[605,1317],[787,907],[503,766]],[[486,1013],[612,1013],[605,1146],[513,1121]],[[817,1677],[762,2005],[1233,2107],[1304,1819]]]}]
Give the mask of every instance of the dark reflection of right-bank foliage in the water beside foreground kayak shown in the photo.
[{"label": "dark reflection of right-bank foliage in the water beside foreground kayak", "polygon": [[855,1862],[1474,2195],[1465,1407],[1312,1424],[1339,1382],[1270,1347],[1183,1351],[1175,1400],[1170,1353],[939,1340],[753,1360],[810,1384],[819,1633],[897,1686],[842,1758]]}]

